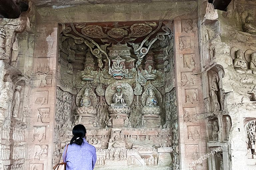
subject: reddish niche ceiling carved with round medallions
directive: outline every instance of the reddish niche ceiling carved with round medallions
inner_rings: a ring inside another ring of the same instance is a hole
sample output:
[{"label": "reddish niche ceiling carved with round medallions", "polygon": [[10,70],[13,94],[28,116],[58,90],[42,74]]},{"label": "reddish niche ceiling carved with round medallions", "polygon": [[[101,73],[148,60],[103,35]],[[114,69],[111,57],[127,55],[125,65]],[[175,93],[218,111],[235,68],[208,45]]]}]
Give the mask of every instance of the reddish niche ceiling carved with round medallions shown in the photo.
[{"label": "reddish niche ceiling carved with round medallions", "polygon": [[[166,24],[166,23],[165,23]],[[156,37],[163,32],[162,22],[132,21],[132,22],[104,22],[104,23],[73,23],[65,28],[72,28],[69,34],[76,37],[89,37],[98,44],[142,42],[146,37]]]}]

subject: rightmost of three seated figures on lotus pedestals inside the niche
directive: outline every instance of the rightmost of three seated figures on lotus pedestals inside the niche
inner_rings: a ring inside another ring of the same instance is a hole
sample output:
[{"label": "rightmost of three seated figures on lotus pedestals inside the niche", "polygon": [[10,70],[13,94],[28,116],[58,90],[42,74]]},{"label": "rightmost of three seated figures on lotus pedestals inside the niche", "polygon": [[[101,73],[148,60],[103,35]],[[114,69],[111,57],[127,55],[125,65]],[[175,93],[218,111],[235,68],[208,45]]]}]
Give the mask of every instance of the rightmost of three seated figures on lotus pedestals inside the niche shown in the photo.
[{"label": "rightmost of three seated figures on lotus pedestals inside the niche", "polygon": [[147,97],[146,105],[142,108],[143,115],[160,115],[161,109],[157,106],[157,99],[155,97],[154,91],[150,88],[148,90],[149,96]]}]

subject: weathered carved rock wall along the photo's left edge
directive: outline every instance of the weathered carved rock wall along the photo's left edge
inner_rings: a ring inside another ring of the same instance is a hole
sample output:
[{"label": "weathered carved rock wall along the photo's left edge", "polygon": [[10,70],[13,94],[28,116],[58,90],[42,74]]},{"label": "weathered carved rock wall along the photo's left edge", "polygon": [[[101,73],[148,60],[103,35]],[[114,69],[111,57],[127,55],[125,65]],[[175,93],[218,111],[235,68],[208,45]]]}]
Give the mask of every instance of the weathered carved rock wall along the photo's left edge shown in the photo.
[{"label": "weathered carved rock wall along the photo's left edge", "polygon": [[32,11],[33,5],[18,19],[0,19],[0,169],[26,166],[27,132],[33,115],[29,103],[34,57]]}]

